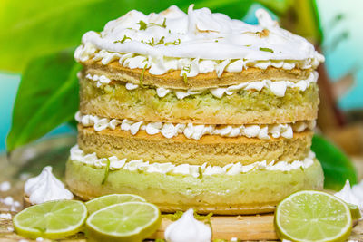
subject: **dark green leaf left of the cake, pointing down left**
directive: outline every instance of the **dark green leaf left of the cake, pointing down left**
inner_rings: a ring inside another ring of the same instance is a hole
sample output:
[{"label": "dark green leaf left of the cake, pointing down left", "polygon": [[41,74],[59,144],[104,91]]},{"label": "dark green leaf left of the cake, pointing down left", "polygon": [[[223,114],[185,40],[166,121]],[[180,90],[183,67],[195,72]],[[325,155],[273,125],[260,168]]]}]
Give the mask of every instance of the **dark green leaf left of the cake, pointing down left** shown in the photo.
[{"label": "dark green leaf left of the cake, pointing down left", "polygon": [[34,59],[25,69],[17,92],[7,150],[25,145],[74,119],[78,110],[81,65],[74,49]]}]

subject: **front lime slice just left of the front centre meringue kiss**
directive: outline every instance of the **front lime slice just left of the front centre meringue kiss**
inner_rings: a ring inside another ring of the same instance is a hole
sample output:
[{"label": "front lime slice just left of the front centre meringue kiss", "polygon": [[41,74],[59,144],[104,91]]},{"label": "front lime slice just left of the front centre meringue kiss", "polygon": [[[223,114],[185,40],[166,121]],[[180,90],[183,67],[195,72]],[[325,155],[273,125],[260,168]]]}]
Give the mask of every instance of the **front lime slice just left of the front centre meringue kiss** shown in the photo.
[{"label": "front lime slice just left of the front centre meringue kiss", "polygon": [[158,229],[160,210],[146,202],[127,202],[102,208],[86,221],[87,237],[95,241],[142,241]]}]

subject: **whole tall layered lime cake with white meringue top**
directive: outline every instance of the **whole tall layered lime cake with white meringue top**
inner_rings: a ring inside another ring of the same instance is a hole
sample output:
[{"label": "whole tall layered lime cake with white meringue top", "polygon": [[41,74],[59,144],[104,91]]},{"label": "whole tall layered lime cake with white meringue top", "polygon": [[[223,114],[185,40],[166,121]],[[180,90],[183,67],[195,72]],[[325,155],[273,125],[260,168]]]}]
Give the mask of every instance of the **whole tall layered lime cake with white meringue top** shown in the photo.
[{"label": "whole tall layered lime cake with white meringue top", "polygon": [[268,212],[322,189],[310,151],[324,57],[263,9],[245,24],[208,8],[132,10],[83,35],[78,144],[67,186],[133,193],[164,212]]}]

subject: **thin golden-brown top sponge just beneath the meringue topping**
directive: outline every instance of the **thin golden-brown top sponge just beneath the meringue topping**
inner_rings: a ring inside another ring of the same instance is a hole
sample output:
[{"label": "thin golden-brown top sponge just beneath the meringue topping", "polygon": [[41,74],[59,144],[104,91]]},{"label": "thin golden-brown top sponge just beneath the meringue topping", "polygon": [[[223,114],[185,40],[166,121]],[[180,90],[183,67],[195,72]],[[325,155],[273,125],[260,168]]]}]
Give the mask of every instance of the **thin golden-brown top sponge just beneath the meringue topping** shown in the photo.
[{"label": "thin golden-brown top sponge just beneath the meringue topping", "polygon": [[139,68],[130,69],[123,67],[123,65],[118,62],[104,65],[100,61],[94,62],[89,60],[83,63],[83,65],[85,73],[105,75],[115,81],[140,84],[142,76],[142,84],[144,85],[175,89],[221,87],[236,85],[241,82],[262,81],[265,79],[273,81],[290,80],[297,82],[302,79],[307,79],[309,73],[312,72],[312,69],[302,70],[294,68],[291,70],[284,70],[275,67],[268,67],[266,69],[249,67],[240,73],[224,72],[221,74],[221,77],[218,77],[216,72],[199,73],[197,76],[188,77],[187,82],[185,82],[180,70],[170,71],[169,73],[161,75],[152,75],[147,70],[142,71],[142,69]]}]

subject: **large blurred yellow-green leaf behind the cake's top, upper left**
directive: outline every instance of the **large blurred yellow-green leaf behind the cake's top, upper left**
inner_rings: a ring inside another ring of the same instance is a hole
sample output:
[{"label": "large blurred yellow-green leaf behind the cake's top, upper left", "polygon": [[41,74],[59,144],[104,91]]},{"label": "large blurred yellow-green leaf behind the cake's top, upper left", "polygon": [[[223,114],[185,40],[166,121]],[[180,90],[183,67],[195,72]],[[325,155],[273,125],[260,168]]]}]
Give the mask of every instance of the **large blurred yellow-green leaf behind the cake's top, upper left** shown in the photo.
[{"label": "large blurred yellow-green leaf behind the cake's top, upper left", "polygon": [[[130,0],[2,0],[0,1],[0,70],[21,72],[34,57],[81,44],[90,30],[132,9],[160,12],[168,1]],[[178,2],[186,10],[189,1]]]}]

